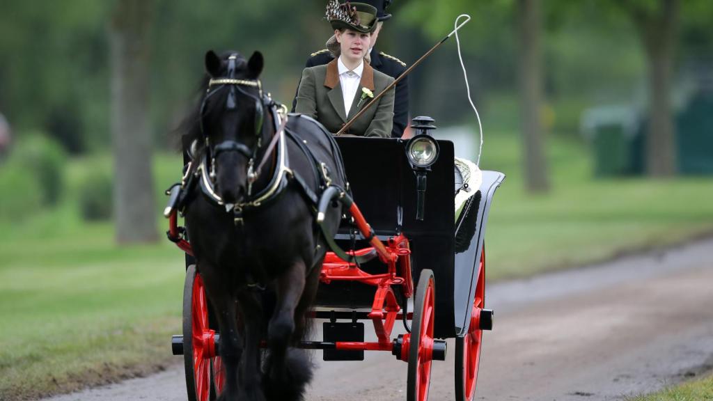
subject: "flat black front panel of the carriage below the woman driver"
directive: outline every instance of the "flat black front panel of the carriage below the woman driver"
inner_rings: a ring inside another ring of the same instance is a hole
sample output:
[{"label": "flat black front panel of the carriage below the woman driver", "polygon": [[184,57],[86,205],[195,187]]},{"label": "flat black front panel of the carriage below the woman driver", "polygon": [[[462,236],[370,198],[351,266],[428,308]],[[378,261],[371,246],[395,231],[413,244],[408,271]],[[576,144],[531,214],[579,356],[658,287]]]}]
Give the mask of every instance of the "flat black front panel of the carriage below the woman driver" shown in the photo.
[{"label": "flat black front panel of the carriage below the woman driver", "polygon": [[[407,141],[401,139],[339,137],[337,143],[352,188],[354,201],[380,238],[401,232],[411,240],[414,285],[423,269],[434,270],[436,281],[436,337],[454,337],[453,265],[454,194],[453,143],[438,141],[440,155],[431,166],[426,183],[424,220],[416,220],[416,176],[406,158]],[[342,248],[351,247],[348,228],[337,235]],[[357,241],[356,248],[368,246]],[[362,266],[369,273],[383,273],[373,260]],[[354,282],[320,285],[317,306],[371,308],[376,288]],[[403,306],[403,305],[402,305]]]}]

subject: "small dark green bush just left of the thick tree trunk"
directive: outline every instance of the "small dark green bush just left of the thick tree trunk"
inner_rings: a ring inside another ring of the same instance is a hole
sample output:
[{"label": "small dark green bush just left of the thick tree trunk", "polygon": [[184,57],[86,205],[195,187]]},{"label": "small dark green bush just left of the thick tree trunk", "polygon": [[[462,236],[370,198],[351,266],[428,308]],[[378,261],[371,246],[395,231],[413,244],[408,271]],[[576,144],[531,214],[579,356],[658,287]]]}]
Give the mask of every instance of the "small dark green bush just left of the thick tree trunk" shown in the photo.
[{"label": "small dark green bush just left of the thick tree trunk", "polygon": [[113,210],[110,173],[91,171],[78,187],[79,210],[87,221],[109,220]]}]

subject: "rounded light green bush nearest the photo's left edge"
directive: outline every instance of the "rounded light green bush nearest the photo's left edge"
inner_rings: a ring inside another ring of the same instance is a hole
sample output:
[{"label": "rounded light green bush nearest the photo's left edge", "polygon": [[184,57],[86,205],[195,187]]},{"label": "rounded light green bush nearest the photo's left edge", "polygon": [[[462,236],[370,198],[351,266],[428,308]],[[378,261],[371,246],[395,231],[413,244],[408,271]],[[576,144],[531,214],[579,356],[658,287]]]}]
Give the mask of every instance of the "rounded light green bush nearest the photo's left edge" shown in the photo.
[{"label": "rounded light green bush nearest the photo's left edge", "polygon": [[53,206],[61,200],[66,155],[56,141],[39,133],[27,135],[13,148],[11,158],[39,184],[42,205]]}]

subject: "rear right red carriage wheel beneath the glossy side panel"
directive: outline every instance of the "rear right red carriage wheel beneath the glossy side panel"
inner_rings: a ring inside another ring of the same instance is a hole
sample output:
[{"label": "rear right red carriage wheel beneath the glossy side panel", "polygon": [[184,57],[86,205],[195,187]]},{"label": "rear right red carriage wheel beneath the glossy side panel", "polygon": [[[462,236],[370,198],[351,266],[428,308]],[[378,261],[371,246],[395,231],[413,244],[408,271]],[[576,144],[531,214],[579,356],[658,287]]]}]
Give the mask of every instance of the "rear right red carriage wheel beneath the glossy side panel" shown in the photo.
[{"label": "rear right red carriage wheel beneath the glossy side panel", "polygon": [[481,360],[481,310],[485,308],[486,289],[486,247],[481,250],[481,263],[478,265],[478,282],[476,294],[473,297],[473,310],[468,333],[463,337],[456,337],[456,400],[472,401],[476,394],[476,381],[478,380],[478,365]]}]

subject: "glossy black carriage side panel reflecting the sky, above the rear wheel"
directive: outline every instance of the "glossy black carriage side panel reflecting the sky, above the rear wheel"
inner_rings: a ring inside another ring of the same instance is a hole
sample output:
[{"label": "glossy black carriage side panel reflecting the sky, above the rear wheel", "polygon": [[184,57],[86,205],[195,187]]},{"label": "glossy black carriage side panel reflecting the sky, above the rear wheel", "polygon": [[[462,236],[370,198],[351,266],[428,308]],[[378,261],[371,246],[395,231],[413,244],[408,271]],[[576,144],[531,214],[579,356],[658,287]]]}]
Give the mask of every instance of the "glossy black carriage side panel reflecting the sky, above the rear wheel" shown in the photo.
[{"label": "glossy black carriage side panel reflecting the sky, above the rear wheel", "polygon": [[[483,171],[483,183],[481,183],[481,196],[478,204],[473,203],[468,210],[464,208],[458,221],[458,245],[461,245],[461,240],[463,241],[462,246],[458,246],[456,249],[456,280],[453,293],[455,331],[458,336],[468,333],[488,213],[493,203],[493,195],[504,179],[505,174],[503,173]],[[465,234],[465,238],[463,238],[463,234]]]}]

